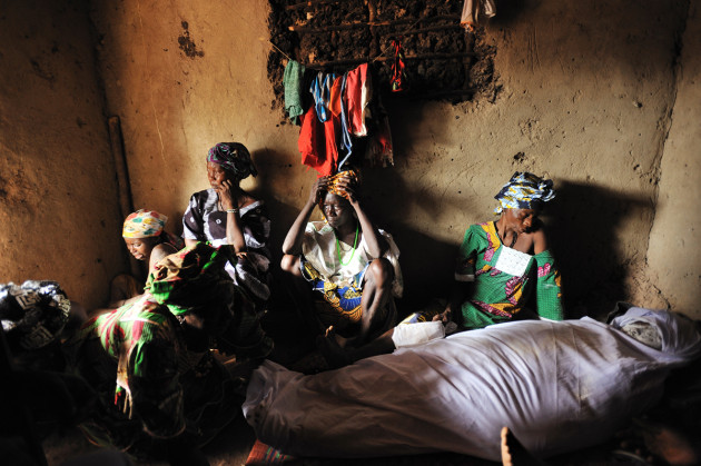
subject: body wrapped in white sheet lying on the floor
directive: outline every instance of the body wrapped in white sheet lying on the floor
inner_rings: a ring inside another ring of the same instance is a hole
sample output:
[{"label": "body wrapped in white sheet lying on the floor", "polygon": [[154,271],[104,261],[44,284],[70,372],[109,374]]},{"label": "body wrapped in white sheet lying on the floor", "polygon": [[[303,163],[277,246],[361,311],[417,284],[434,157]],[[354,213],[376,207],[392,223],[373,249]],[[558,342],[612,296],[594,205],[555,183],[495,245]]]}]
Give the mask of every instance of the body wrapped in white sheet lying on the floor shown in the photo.
[{"label": "body wrapped in white sheet lying on the floor", "polygon": [[[659,328],[660,350],[619,329],[631,319]],[[456,452],[494,460],[509,426],[545,457],[610,438],[700,350],[693,323],[669,311],[632,308],[612,325],[514,321],[313,376],[266,361],[244,413],[261,442],[292,455]]]}]

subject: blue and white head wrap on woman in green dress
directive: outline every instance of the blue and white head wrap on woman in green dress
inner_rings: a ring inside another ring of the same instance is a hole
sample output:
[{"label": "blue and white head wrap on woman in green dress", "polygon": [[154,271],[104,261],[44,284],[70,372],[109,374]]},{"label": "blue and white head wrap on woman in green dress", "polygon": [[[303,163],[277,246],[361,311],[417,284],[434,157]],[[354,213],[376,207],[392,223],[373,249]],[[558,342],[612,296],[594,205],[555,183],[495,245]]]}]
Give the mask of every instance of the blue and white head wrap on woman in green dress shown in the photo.
[{"label": "blue and white head wrap on woman in green dress", "polygon": [[500,206],[494,214],[504,209],[541,209],[543,202],[555,197],[553,181],[543,179],[527,171],[516,171],[511,180],[504,185],[494,199]]}]

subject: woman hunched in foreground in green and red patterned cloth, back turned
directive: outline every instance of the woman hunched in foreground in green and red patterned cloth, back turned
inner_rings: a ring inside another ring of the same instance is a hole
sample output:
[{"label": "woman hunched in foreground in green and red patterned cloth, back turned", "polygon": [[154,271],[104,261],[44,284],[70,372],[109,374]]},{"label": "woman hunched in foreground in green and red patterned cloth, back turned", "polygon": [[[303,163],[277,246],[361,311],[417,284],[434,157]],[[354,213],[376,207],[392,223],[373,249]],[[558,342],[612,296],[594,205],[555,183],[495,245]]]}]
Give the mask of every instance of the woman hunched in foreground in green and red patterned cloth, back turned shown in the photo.
[{"label": "woman hunched in foreground in green and red patterned cloth, back turned", "polygon": [[63,345],[69,367],[101,400],[81,424],[93,443],[205,464],[188,455],[240,408],[238,387],[209,348],[256,364],[273,347],[224,270],[228,249],[198,242],[167,256],[144,296],[88,320]]}]

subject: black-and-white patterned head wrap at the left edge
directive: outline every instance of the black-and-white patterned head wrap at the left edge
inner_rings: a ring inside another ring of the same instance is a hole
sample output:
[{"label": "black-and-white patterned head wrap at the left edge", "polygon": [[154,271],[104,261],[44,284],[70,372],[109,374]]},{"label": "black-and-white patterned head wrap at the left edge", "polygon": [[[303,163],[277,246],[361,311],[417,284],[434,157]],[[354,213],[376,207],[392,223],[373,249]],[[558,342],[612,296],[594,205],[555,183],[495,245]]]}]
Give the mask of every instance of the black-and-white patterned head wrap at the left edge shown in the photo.
[{"label": "black-and-white patterned head wrap at the left edge", "polygon": [[0,285],[0,320],[13,350],[38,349],[53,341],[69,313],[70,300],[56,281]]}]

